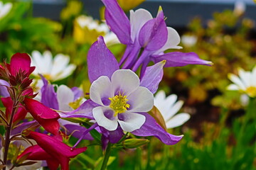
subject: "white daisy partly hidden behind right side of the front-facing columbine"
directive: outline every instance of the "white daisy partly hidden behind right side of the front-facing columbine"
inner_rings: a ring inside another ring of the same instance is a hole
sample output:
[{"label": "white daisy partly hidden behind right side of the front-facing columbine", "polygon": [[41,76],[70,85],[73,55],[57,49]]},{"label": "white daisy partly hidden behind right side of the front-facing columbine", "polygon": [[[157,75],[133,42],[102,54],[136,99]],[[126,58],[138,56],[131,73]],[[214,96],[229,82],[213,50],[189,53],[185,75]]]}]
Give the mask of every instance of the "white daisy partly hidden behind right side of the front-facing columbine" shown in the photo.
[{"label": "white daisy partly hidden behind right side of the front-facing columbine", "polygon": [[164,91],[159,91],[154,97],[154,106],[158,108],[163,116],[167,129],[183,125],[190,118],[188,113],[176,114],[183,105],[183,101],[176,101],[177,96],[175,94],[166,97]]}]

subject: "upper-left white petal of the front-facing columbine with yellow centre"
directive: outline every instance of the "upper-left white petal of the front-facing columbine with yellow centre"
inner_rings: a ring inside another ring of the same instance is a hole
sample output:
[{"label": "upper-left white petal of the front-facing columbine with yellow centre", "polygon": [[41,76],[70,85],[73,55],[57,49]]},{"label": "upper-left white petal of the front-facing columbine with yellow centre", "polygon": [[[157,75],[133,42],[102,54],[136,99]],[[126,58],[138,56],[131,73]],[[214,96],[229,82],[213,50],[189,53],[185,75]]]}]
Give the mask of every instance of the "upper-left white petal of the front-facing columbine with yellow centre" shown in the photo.
[{"label": "upper-left white petal of the front-facing columbine with yellow centre", "polygon": [[102,98],[106,98],[108,100],[108,98],[114,96],[114,93],[110,89],[110,79],[106,76],[102,76],[92,82],[92,85],[90,87],[90,98],[95,103],[104,106],[104,104],[102,103]]}]

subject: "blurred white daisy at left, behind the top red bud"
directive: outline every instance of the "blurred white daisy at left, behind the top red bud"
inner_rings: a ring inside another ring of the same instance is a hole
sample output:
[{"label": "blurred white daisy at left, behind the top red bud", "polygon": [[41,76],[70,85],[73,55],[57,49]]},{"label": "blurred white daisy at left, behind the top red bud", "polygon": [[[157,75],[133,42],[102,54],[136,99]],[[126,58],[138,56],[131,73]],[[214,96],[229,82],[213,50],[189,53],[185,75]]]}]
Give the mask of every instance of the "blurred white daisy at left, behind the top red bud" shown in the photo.
[{"label": "blurred white daisy at left, behind the top red bud", "polygon": [[36,66],[32,74],[36,77],[42,74],[49,81],[58,81],[70,76],[76,67],[75,64],[68,64],[70,62],[68,55],[58,54],[53,58],[49,51],[43,52],[43,55],[38,51],[33,51],[31,59],[31,65]]}]

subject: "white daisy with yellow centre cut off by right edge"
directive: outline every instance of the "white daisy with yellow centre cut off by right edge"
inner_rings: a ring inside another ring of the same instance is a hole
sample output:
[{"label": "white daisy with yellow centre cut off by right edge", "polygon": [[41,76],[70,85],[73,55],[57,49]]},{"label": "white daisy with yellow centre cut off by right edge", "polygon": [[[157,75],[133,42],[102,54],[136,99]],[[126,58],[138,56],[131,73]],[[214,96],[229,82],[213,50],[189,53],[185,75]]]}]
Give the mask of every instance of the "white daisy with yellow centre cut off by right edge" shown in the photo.
[{"label": "white daisy with yellow centre cut off by right edge", "polygon": [[245,72],[245,70],[239,68],[238,76],[235,74],[228,74],[228,78],[233,81],[234,84],[230,84],[227,89],[233,91],[242,91],[242,93],[255,98],[256,97],[256,66],[252,69],[252,72]]}]

